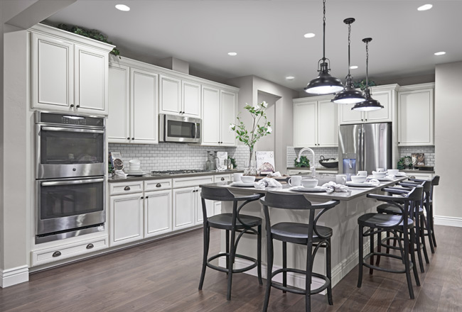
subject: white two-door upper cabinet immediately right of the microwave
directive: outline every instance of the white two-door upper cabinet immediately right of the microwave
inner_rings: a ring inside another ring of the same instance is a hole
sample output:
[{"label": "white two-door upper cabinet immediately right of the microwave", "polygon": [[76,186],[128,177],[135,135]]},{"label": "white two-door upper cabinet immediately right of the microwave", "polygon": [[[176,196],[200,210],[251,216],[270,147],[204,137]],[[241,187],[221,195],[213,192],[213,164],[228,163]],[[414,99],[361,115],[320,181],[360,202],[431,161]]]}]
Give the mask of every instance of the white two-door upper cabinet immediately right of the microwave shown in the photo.
[{"label": "white two-door upper cabinet immediately right of the microwave", "polygon": [[235,146],[230,124],[236,122],[237,94],[202,87],[203,145]]}]

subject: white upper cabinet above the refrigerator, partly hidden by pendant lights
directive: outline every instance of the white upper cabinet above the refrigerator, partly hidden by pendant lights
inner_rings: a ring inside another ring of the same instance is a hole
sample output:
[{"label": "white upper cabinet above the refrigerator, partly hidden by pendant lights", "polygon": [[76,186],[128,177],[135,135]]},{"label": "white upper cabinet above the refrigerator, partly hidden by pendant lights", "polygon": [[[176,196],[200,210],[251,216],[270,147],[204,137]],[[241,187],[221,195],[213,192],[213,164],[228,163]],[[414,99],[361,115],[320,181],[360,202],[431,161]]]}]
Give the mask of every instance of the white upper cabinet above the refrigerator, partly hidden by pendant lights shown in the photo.
[{"label": "white upper cabinet above the refrigerator, partly hidden by pendant lights", "polygon": [[372,98],[384,106],[377,111],[353,111],[355,104],[338,104],[340,106],[340,124],[350,123],[385,123],[394,121],[397,84],[372,87]]}]

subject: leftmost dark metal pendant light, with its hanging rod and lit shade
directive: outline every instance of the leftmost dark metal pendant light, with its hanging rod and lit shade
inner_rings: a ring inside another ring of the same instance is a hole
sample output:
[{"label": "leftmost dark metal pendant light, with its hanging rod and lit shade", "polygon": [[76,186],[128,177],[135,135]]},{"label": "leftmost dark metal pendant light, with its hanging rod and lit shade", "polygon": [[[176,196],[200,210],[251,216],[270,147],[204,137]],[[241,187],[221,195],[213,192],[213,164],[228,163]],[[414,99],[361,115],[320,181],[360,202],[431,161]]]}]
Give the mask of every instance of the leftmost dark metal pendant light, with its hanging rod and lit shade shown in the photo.
[{"label": "leftmost dark metal pendant light, with its hanging rod and lit shade", "polygon": [[[340,79],[332,77],[329,74],[331,70],[326,62],[326,0],[323,0],[323,58],[318,61],[319,75],[311,80],[304,89],[309,94],[332,94],[343,90],[343,84]],[[321,65],[319,64],[321,61]],[[329,60],[330,62],[331,60]]]}]

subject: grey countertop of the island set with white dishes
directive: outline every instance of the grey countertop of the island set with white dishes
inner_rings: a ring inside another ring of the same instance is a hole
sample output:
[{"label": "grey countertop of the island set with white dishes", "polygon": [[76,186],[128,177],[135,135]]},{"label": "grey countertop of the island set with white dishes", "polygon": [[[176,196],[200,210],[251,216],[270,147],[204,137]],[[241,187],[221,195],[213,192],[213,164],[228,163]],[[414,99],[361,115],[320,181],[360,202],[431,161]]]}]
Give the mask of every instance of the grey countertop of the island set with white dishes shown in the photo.
[{"label": "grey countertop of the island set with white dishes", "polygon": [[[245,194],[266,194],[267,191],[276,191],[281,193],[290,193],[290,194],[303,194],[308,199],[316,199],[316,200],[323,200],[323,201],[331,201],[331,200],[338,200],[338,201],[350,201],[351,199],[356,199],[360,196],[365,196],[366,194],[374,193],[377,190],[383,189],[387,186],[392,186],[397,182],[401,182],[407,177],[402,177],[396,179],[394,182],[380,182],[380,186],[372,186],[372,187],[353,187],[348,186],[348,192],[334,192],[334,193],[307,193],[301,191],[291,191],[291,186],[289,184],[283,183],[281,187],[267,187],[265,189],[255,189],[254,187],[237,187],[237,186],[230,186],[231,182],[217,182],[211,184],[205,184],[207,186],[221,186],[227,187],[231,191],[235,191],[237,193],[245,193]],[[329,181],[329,179],[318,179],[319,185],[322,185]],[[202,185],[201,185],[202,186]]]}]

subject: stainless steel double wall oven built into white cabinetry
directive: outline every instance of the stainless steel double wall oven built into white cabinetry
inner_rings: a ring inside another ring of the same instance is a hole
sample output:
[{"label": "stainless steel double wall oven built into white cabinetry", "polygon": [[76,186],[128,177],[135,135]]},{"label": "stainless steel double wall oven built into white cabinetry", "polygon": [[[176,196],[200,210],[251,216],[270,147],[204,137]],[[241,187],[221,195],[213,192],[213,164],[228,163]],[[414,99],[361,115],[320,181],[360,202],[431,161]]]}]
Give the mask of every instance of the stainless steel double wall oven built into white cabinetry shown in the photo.
[{"label": "stainless steel double wall oven built into white cabinetry", "polygon": [[104,230],[104,117],[36,111],[36,243]]}]

